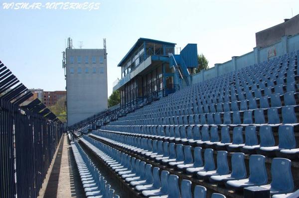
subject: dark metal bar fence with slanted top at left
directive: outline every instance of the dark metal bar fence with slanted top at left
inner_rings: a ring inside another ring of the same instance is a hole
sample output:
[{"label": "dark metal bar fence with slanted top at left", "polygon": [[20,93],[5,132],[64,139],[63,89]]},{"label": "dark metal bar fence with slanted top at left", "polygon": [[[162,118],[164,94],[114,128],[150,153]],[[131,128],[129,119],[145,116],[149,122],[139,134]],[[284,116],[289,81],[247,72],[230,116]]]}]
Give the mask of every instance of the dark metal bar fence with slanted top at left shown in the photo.
[{"label": "dark metal bar fence with slanted top at left", "polygon": [[0,198],[36,198],[63,127],[39,100],[20,107],[32,94],[15,82],[0,62]]}]

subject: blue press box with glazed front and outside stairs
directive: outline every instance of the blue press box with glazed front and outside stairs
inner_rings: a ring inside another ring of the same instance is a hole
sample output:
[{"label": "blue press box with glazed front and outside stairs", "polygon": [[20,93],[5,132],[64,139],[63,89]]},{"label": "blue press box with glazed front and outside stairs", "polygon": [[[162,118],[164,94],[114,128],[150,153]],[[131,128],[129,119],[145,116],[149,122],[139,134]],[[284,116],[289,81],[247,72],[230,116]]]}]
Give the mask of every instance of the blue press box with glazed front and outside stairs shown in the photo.
[{"label": "blue press box with glazed front and outside stairs", "polygon": [[118,64],[122,79],[113,91],[121,93],[121,105],[161,98],[191,85],[190,72],[197,67],[197,45],[187,44],[175,53],[175,43],[139,38]]}]

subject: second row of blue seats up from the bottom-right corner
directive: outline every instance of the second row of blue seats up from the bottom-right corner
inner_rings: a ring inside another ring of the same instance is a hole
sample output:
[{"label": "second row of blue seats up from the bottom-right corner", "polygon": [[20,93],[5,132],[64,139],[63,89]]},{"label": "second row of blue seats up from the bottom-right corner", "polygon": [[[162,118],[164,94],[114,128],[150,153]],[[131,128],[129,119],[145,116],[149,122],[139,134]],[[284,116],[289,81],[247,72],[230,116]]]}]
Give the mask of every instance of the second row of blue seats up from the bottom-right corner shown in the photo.
[{"label": "second row of blue seats up from the bottom-right corner", "polygon": [[[157,142],[151,139],[157,139],[161,141],[167,142],[175,142],[182,143],[192,146],[201,146],[206,148],[214,148],[217,150],[228,150],[231,152],[239,152],[242,151],[244,153],[250,154],[262,154],[269,157],[278,156],[278,157],[286,157],[289,159],[294,159],[299,154],[299,148],[297,148],[297,142],[294,134],[294,126],[292,125],[280,125],[278,129],[279,143],[275,144],[275,139],[273,135],[273,127],[269,125],[263,125],[258,127],[259,138],[257,135],[257,127],[256,126],[247,126],[245,127],[245,132],[243,132],[242,126],[237,126],[233,128],[232,138],[230,136],[230,129],[228,126],[221,127],[220,129],[220,137],[219,137],[219,129],[217,126],[170,126],[165,127],[164,129],[160,126],[153,127],[157,128],[153,133],[126,133],[120,132],[118,133],[125,135],[133,135],[133,136],[125,136],[120,135],[116,136],[116,129],[111,129],[111,127],[104,127],[106,129],[110,129],[108,133],[103,133],[100,131],[93,131],[93,134],[107,134],[111,136],[111,138],[124,138],[122,141],[132,142],[135,146],[147,146],[147,149],[157,149]],[[132,127],[131,127],[132,128]],[[130,127],[128,127],[129,131]],[[102,130],[104,131],[104,130]],[[136,137],[139,136],[139,137]],[[244,137],[245,136],[245,141]],[[146,139],[149,138],[149,139]],[[120,139],[118,139],[120,140]],[[147,143],[147,141],[149,141]],[[160,143],[162,144],[162,143]],[[159,149],[162,149],[161,145]]]}]

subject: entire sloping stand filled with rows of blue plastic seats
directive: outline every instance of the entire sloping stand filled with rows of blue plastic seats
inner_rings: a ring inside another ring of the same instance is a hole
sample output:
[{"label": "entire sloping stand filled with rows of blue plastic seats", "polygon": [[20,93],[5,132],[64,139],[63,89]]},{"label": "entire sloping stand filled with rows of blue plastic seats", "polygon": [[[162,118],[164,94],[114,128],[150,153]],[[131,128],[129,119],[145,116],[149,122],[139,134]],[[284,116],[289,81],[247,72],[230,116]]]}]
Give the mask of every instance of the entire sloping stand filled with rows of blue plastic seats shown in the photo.
[{"label": "entire sloping stand filled with rows of blue plastic seats", "polygon": [[298,58],[190,85],[83,135],[72,148],[86,195],[114,196],[80,145],[136,197],[298,198]]}]

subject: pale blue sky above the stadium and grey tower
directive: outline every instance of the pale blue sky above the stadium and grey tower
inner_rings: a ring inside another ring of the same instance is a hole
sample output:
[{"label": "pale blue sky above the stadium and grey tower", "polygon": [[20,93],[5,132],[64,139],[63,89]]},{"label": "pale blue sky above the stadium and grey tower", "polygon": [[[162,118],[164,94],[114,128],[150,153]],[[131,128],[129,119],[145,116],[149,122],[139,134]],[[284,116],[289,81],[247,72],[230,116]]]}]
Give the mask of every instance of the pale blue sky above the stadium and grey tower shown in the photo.
[{"label": "pale blue sky above the stadium and grey tower", "polygon": [[213,67],[252,51],[255,32],[292,17],[292,8],[299,13],[298,0],[91,0],[101,3],[92,11],[3,10],[7,1],[0,0],[0,60],[27,88],[65,89],[61,52],[67,37],[76,48],[79,41],[83,48],[103,48],[106,38],[108,95],[121,76],[117,64],[140,37],[177,47],[197,43]]}]

